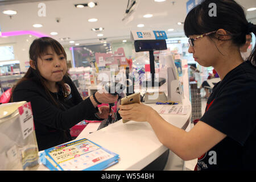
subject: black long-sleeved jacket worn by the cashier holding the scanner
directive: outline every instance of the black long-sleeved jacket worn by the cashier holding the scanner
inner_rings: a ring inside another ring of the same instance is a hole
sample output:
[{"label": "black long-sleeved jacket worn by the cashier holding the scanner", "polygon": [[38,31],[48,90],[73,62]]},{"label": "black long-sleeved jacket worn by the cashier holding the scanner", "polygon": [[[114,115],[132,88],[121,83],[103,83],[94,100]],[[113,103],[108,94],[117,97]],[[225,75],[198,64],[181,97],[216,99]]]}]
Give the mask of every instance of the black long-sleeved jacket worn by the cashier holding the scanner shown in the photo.
[{"label": "black long-sleeved jacket worn by the cashier holding the scanner", "polygon": [[31,102],[39,151],[69,142],[69,129],[83,119],[101,120],[96,118],[98,107],[94,108],[90,98],[82,100],[68,76],[64,77],[64,81],[71,89],[68,96],[64,96],[61,88],[58,93],[50,92],[57,105],[51,101],[46,90],[35,78],[21,82],[14,89],[14,102]]}]

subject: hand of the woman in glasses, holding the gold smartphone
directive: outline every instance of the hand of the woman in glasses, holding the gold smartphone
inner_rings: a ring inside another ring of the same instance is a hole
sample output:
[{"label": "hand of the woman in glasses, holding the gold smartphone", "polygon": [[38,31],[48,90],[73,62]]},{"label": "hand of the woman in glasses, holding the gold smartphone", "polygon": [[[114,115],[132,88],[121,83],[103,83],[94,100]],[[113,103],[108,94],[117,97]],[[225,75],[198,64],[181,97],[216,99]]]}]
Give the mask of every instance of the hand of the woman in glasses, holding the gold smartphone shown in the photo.
[{"label": "hand of the woman in glasses, holding the gold smartphone", "polygon": [[152,107],[144,104],[129,104],[119,105],[118,113],[123,119],[130,119],[133,121],[148,121],[151,114],[155,113]]}]

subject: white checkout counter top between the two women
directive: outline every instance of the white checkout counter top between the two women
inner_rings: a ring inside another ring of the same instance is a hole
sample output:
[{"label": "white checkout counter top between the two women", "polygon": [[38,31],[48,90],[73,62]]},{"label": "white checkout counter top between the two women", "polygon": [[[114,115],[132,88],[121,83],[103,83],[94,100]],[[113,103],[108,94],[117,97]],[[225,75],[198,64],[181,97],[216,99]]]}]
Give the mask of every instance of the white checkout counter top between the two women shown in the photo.
[{"label": "white checkout counter top between the two women", "polygon": [[[163,105],[156,104],[147,105],[156,111],[163,107]],[[191,127],[191,102],[187,97],[184,98],[183,105],[190,106],[186,115],[161,114],[161,116],[172,125],[189,131]],[[106,168],[105,171],[185,169],[184,160],[159,142],[154,130],[147,122],[129,121],[124,124],[120,120],[91,134],[86,131],[86,127],[76,140],[87,138],[119,155],[119,162]],[[156,166],[161,166],[161,169],[154,168],[154,163]],[[49,169],[43,164],[39,164],[31,170],[47,171]]]}]

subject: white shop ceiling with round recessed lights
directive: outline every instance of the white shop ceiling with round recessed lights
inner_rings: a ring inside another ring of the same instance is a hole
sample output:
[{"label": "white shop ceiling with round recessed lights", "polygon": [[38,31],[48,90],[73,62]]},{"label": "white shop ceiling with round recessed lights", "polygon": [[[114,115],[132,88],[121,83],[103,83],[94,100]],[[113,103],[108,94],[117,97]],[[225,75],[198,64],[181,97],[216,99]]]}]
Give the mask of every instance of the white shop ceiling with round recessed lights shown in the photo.
[{"label": "white shop ceiling with round recessed lights", "polygon": [[[15,3],[19,2],[19,3]],[[174,28],[174,31],[167,32],[168,36],[183,36],[183,26],[177,22],[184,22],[187,15],[187,0],[167,0],[157,3],[154,0],[137,0],[138,6],[131,22],[122,21],[128,0],[96,0],[98,6],[90,9],[84,7],[77,9],[77,3],[88,3],[89,0],[49,0],[49,1],[29,1],[29,0],[0,0],[1,3],[9,3],[0,6],[0,26],[2,32],[31,30],[49,35],[50,32],[58,32],[53,38],[61,42],[61,38],[69,37],[76,43],[96,43],[100,42],[97,33],[92,28],[104,27],[102,34],[107,41],[116,39],[129,39],[131,30],[164,30]],[[237,0],[245,9],[256,7],[255,0]],[[46,16],[39,16],[39,3],[46,5]],[[2,14],[3,10],[16,10],[18,14],[11,18]],[[144,14],[152,14],[152,18],[143,18]],[[256,11],[246,12],[247,18],[256,24]],[[56,22],[59,18],[59,23]],[[97,18],[97,22],[88,22],[89,18]],[[34,28],[32,24],[43,24],[41,28]],[[138,28],[137,24],[143,23],[143,28]],[[0,40],[1,41],[1,40]],[[68,43],[69,40],[62,42]]]}]

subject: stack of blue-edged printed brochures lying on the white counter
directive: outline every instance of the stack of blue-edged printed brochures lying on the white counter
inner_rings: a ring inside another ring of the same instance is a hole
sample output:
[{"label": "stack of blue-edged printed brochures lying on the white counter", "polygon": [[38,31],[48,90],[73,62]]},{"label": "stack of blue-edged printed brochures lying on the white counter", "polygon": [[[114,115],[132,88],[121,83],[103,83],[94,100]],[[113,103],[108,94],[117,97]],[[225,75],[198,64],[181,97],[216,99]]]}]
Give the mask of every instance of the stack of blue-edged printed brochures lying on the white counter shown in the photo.
[{"label": "stack of blue-edged printed brochures lying on the white counter", "polygon": [[40,158],[52,171],[98,171],[118,163],[119,155],[84,138],[48,148]]}]

